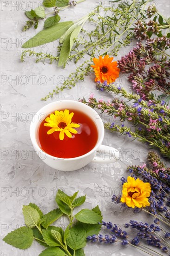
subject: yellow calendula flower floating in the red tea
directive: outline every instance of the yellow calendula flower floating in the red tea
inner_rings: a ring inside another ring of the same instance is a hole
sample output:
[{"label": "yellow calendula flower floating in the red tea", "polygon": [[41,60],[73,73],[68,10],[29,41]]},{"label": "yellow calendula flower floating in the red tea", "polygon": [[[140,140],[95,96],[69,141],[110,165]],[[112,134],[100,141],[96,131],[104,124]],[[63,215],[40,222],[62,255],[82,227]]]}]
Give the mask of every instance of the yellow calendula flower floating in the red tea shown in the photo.
[{"label": "yellow calendula flower floating in the red tea", "polygon": [[46,118],[45,126],[52,127],[52,129],[47,131],[47,134],[52,134],[53,132],[60,132],[59,139],[63,140],[65,135],[69,138],[72,137],[73,134],[77,134],[77,131],[73,128],[78,128],[80,125],[77,123],[72,123],[72,117],[74,113],[69,114],[69,110],[65,109],[63,111],[55,111],[54,114],[50,114],[50,117]]}]

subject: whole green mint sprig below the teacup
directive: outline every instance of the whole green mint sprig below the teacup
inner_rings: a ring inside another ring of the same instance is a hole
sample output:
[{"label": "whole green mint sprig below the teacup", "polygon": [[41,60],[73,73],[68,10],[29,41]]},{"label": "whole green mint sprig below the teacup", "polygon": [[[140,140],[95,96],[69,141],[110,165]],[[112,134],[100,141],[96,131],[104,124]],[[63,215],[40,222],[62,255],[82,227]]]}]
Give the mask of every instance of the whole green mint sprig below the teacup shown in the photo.
[{"label": "whole green mint sprig below the teacup", "polygon": [[[102,215],[98,206],[92,210],[81,209],[74,214],[74,209],[85,202],[85,195],[77,196],[78,191],[70,196],[59,189],[55,198],[59,208],[45,215],[34,203],[24,205],[26,226],[10,232],[3,241],[16,248],[27,249],[34,239],[46,247],[39,256],[85,256],[86,237],[99,233],[101,225],[98,222],[101,222]],[[52,225],[63,215],[69,219],[65,231]]]}]

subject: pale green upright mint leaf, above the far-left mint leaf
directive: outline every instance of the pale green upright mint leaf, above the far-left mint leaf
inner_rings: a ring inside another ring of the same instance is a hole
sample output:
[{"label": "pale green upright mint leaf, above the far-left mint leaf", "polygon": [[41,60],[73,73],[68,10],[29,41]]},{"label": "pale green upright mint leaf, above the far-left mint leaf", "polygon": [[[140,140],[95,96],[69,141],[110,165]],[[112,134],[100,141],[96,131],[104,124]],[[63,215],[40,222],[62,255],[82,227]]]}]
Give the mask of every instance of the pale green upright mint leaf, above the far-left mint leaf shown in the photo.
[{"label": "pale green upright mint leaf, above the far-left mint leaf", "polygon": [[36,209],[29,205],[23,205],[22,208],[26,226],[33,228],[39,224],[40,216]]}]

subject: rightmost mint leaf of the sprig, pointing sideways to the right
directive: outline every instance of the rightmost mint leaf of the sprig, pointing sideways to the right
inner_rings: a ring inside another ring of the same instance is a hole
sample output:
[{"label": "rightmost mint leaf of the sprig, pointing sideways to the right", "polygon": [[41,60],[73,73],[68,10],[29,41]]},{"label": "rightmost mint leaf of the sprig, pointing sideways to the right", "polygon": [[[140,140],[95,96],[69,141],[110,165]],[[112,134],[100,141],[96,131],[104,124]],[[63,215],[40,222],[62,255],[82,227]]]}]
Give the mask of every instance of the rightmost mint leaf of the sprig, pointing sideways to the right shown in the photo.
[{"label": "rightmost mint leaf of the sprig, pointing sideways to the right", "polygon": [[89,224],[97,224],[98,222],[102,221],[102,216],[98,215],[97,213],[90,209],[82,209],[75,215],[75,218],[79,222]]}]

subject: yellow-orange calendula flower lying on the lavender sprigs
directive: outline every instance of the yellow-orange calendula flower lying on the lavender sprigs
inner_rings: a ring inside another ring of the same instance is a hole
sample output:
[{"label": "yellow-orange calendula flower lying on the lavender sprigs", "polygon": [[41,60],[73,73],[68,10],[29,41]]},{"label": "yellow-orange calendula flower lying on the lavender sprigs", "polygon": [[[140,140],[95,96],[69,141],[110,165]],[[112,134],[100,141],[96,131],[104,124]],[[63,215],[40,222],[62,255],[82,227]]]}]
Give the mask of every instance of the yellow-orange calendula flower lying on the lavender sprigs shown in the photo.
[{"label": "yellow-orange calendula flower lying on the lavender sprigs", "polygon": [[128,176],[127,182],[123,185],[121,202],[125,202],[127,206],[141,208],[149,206],[148,197],[150,196],[150,183],[144,183],[139,178],[135,180]]}]

